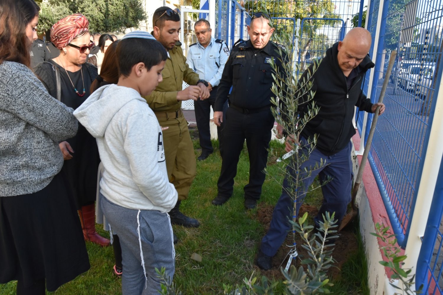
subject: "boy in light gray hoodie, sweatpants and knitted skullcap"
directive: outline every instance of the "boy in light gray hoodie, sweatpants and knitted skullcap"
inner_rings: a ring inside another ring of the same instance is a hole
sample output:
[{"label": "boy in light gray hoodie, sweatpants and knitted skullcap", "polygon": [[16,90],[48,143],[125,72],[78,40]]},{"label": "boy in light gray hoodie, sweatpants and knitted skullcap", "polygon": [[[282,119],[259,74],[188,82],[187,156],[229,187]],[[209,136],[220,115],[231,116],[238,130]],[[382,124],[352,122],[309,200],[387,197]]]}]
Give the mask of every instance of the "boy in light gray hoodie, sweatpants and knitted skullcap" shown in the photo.
[{"label": "boy in light gray hoodie, sweatpants and knitted skullcap", "polygon": [[169,212],[177,191],[169,183],[162,130],[146,101],[162,80],[166,50],[142,31],[126,34],[117,46],[118,84],[93,92],[74,111],[97,138],[104,166],[100,205],[123,257],[123,294],[157,294],[155,268],[174,276],[175,250]]}]

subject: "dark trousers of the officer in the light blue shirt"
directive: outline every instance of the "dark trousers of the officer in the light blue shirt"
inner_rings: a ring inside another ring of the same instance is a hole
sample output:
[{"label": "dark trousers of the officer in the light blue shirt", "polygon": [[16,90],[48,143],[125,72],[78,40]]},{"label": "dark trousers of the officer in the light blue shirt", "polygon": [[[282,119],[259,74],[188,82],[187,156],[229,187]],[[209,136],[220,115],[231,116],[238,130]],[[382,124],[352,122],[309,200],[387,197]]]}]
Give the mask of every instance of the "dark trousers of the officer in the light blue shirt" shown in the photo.
[{"label": "dark trousers of the officer in the light blue shirt", "polygon": [[[200,146],[202,147],[202,153],[214,151],[211,143],[211,132],[209,126],[209,116],[212,107],[214,109],[215,98],[217,97],[217,86],[212,88],[209,98],[206,100],[197,100],[194,103],[195,121],[197,121],[198,138],[200,140]],[[223,148],[221,142],[223,141],[223,126],[226,121],[226,109],[228,108],[228,101],[223,105],[223,122],[220,126],[217,126],[217,137],[220,146],[220,154],[222,154]]]}]

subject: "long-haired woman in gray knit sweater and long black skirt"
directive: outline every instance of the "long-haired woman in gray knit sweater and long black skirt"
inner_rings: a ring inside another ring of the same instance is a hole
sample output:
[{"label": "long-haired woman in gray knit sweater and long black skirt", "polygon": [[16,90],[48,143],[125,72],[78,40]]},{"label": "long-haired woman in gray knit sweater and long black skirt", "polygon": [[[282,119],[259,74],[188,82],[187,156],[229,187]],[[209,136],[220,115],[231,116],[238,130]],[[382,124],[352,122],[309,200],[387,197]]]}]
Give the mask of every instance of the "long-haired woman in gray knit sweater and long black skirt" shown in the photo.
[{"label": "long-haired woman in gray knit sweater and long black skirt", "polygon": [[44,295],[89,269],[58,142],[73,137],[73,109],[55,100],[30,67],[39,7],[0,0],[0,284]]}]

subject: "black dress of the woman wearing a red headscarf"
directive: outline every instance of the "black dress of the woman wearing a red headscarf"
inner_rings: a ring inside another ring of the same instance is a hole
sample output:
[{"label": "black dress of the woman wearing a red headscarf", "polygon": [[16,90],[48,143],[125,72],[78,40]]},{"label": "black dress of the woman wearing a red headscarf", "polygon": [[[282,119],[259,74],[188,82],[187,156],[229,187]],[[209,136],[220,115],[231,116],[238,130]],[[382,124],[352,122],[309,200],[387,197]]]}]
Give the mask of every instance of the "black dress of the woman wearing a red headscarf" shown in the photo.
[{"label": "black dress of the woman wearing a red headscarf", "polygon": [[[55,63],[54,63],[55,64]],[[97,77],[97,68],[90,64],[82,65],[82,71],[65,71],[57,65],[61,78],[61,101],[74,110],[78,108],[90,95],[89,88],[92,81]],[[47,63],[40,64],[35,73],[43,80],[49,93],[56,97],[55,72],[52,66]],[[83,79],[82,79],[83,73]],[[68,77],[69,75],[69,77]],[[80,97],[75,93],[72,84],[81,94],[83,92],[83,82],[85,84],[85,95]],[[68,183],[68,190],[73,192],[77,209],[95,202],[97,191],[97,171],[100,164],[97,142],[89,132],[78,124],[78,132],[73,138],[66,140],[74,149],[71,153],[73,158],[66,160],[61,173],[64,174]]]}]

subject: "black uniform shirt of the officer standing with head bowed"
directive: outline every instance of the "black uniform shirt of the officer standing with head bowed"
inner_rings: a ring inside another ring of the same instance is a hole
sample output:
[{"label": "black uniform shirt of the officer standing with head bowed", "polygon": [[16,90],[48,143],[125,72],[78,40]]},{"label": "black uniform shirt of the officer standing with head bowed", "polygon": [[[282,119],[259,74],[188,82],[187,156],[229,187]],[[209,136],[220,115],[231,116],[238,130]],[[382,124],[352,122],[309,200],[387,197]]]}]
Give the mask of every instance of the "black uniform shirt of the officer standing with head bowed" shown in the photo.
[{"label": "black uniform shirt of the officer standing with head bowed", "polygon": [[[271,59],[281,69],[279,47],[269,41],[262,49],[255,49],[250,40],[233,47],[218,85],[214,111],[222,111],[227,100],[229,104],[246,109],[257,109],[271,104],[272,66]],[[283,60],[285,57],[283,57]]]}]

